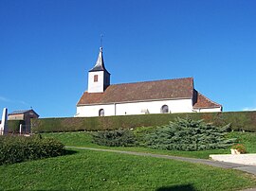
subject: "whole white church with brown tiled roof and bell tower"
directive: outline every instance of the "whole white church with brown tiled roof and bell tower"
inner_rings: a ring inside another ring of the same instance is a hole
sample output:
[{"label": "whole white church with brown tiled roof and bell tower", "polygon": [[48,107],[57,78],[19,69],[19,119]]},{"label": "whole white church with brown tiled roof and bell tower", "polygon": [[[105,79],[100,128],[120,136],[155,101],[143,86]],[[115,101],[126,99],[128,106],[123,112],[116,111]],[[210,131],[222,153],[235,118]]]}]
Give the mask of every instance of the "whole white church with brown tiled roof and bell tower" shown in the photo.
[{"label": "whole white church with brown tiled roof and bell tower", "polygon": [[75,116],[216,112],[222,112],[222,105],[196,91],[193,78],[111,84],[101,47]]}]

